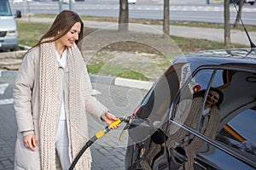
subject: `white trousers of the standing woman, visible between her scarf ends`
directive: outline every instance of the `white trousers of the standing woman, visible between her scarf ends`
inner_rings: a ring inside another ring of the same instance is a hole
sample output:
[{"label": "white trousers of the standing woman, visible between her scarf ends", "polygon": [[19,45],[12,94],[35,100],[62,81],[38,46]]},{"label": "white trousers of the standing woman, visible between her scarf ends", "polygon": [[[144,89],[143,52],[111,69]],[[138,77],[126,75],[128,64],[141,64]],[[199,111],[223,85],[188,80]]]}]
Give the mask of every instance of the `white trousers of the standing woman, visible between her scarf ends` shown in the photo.
[{"label": "white trousers of the standing woman, visible between her scarf ends", "polygon": [[60,120],[55,137],[55,149],[61,161],[61,169],[67,170],[71,162],[68,154],[68,135],[67,135],[67,122]]}]

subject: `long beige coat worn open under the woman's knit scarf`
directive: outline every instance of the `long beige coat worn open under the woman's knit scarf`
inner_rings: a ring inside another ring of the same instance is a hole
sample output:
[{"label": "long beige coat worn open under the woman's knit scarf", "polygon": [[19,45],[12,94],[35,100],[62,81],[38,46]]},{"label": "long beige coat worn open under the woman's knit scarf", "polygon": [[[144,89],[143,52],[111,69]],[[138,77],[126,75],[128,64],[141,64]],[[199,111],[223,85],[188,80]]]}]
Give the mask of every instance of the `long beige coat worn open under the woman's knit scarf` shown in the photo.
[{"label": "long beige coat worn open under the woman's knit scarf", "polygon": [[[67,55],[68,58],[68,55]],[[53,62],[57,62],[56,60]],[[85,65],[85,63],[84,63]],[[85,68],[86,70],[86,68]],[[64,81],[58,80],[57,82],[63,83],[63,91],[68,94],[68,68],[66,66],[65,71],[62,71],[64,74]],[[100,102],[96,100],[92,95],[92,88],[90,84],[90,77],[87,71],[85,72],[85,84],[86,88],[84,93],[86,95],[86,99],[84,101],[84,105],[86,105],[86,112],[89,112],[93,116],[96,116],[99,120],[101,120],[101,116],[104,112],[108,111],[108,109],[102,105]],[[58,71],[58,75],[61,74]],[[22,64],[20,65],[20,69],[17,73],[17,77],[15,80],[15,88],[14,88],[14,99],[15,99],[15,113],[16,113],[16,121],[18,125],[17,132],[17,140],[15,144],[15,169],[26,169],[26,170],[39,170],[41,167],[41,159],[42,155],[40,154],[40,130],[39,130],[39,113],[40,113],[40,50],[39,47],[33,48],[30,50],[26,56],[24,57]],[[58,85],[59,86],[59,85]],[[61,90],[61,88],[60,88]],[[58,92],[57,100],[59,101],[57,108],[61,108],[61,99],[62,92]],[[64,105],[66,113],[69,111],[68,108],[68,97],[64,95]],[[60,113],[55,114],[55,122],[58,122]],[[87,127],[87,117],[84,112],[84,116],[79,117],[81,119],[78,122],[79,127],[83,127],[81,133],[86,137],[84,141],[81,143],[81,148],[85,144],[86,140],[88,140],[88,127]],[[57,123],[55,125],[57,128]],[[67,116],[67,129],[69,129],[68,116]],[[73,127],[75,128],[75,127]],[[23,144],[23,136],[26,135],[27,132],[33,131],[36,135],[36,151],[32,151],[27,149]],[[56,131],[55,131],[56,132]],[[70,133],[68,133],[70,135]],[[72,145],[69,146],[69,156],[70,160],[73,161],[74,156],[72,155],[71,149]],[[87,153],[84,153],[87,156],[90,156],[90,150],[86,150]],[[57,162],[57,159],[56,159]],[[56,164],[56,167],[58,165]]]}]

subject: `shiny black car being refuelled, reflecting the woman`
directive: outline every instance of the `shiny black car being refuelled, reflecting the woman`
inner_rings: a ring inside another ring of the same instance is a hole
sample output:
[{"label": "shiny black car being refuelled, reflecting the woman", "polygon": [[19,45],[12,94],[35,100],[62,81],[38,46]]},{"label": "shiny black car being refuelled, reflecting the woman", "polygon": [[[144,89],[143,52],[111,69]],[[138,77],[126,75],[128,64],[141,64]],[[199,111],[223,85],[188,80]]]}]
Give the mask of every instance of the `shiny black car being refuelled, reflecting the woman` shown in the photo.
[{"label": "shiny black car being refuelled, reflecting the woman", "polygon": [[132,116],[125,169],[255,169],[256,50],[177,56]]}]

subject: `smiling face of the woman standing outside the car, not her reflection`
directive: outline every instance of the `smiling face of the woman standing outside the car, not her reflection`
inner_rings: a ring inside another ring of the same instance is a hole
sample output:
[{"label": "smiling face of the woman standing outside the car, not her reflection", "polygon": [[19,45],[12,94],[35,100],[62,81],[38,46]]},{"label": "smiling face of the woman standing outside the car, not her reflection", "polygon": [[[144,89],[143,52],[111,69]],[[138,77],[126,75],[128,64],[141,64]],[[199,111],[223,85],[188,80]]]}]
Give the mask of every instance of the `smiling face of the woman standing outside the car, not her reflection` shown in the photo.
[{"label": "smiling face of the woman standing outside the car, not her reflection", "polygon": [[72,47],[73,42],[79,39],[79,33],[81,31],[81,23],[76,22],[73,27],[70,29],[70,31],[67,32],[63,37],[61,37],[59,42],[61,42],[61,45],[64,45],[66,47]]}]

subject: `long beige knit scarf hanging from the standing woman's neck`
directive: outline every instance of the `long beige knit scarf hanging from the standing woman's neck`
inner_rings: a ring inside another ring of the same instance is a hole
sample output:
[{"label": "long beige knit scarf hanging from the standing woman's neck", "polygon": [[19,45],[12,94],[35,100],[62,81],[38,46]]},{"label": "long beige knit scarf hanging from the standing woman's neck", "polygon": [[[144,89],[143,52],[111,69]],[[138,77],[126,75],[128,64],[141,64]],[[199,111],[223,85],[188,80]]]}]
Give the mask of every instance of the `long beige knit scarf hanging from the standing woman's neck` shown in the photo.
[{"label": "long beige knit scarf hanging from the standing woman's neck", "polygon": [[[40,156],[43,170],[55,169],[55,116],[57,110],[57,71],[55,57],[55,42],[45,42],[40,45]],[[68,105],[67,130],[72,160],[88,140],[87,119],[85,115],[84,77],[87,73],[84,59],[76,44],[68,48]],[[88,76],[88,75],[87,75]],[[86,124],[86,125],[84,125]],[[90,169],[90,150],[86,150],[79,159],[75,169]]]}]

